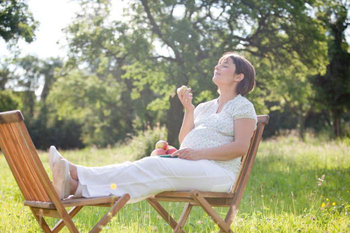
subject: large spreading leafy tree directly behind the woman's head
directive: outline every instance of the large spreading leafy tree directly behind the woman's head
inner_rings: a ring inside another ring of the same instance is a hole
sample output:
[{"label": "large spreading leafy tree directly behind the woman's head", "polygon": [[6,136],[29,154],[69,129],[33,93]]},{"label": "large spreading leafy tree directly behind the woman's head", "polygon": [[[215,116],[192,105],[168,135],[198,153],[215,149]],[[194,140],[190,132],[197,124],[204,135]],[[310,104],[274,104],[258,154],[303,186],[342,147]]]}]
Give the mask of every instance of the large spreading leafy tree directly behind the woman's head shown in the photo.
[{"label": "large spreading leafy tree directly behind the woman's head", "polygon": [[[80,2],[83,13],[66,30],[71,64],[87,62],[101,79],[113,73],[127,86],[131,103],[146,99],[145,109],[166,124],[173,145],[183,114],[176,87],[191,86],[195,105],[215,97],[212,71],[224,51],[237,51],[255,65],[257,87],[247,97],[260,114],[267,113],[264,99],[277,105],[301,99],[297,114],[304,114],[312,92],[294,90],[326,65],[323,26],[311,16],[314,1],[137,0],[125,9],[125,21],[108,20],[108,1],[97,7]],[[141,92],[147,88],[151,92]],[[135,111],[135,104],[127,105]]]}]

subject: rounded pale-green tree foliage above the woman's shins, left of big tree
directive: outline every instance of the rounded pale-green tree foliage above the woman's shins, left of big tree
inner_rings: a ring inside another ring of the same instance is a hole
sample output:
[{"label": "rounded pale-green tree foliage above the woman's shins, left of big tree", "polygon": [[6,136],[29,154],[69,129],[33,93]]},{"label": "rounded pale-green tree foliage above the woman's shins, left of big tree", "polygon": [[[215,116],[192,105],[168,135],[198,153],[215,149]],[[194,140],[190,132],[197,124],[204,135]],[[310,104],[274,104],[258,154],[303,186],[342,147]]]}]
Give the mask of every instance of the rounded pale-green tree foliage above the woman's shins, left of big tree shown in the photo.
[{"label": "rounded pale-green tree foliage above the woman's shins, left of big tree", "polygon": [[56,111],[58,120],[70,119],[82,125],[84,144],[106,146],[121,139],[128,127],[121,120],[122,88],[111,76],[100,80],[95,75],[73,70],[57,78],[47,104]]}]

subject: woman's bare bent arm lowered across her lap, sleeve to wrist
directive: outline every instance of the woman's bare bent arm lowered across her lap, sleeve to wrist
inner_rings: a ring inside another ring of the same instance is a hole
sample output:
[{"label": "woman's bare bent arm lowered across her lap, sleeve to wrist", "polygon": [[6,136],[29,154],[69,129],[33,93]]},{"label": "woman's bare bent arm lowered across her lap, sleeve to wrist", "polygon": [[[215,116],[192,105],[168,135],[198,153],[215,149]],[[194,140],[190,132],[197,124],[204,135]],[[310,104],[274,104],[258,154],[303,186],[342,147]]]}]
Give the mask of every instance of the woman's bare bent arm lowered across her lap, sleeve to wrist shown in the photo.
[{"label": "woman's bare bent arm lowered across her lap, sleeve to wrist", "polygon": [[234,120],[234,141],[212,148],[199,149],[200,159],[230,160],[243,156],[250,144],[254,132],[255,120],[238,118]]}]

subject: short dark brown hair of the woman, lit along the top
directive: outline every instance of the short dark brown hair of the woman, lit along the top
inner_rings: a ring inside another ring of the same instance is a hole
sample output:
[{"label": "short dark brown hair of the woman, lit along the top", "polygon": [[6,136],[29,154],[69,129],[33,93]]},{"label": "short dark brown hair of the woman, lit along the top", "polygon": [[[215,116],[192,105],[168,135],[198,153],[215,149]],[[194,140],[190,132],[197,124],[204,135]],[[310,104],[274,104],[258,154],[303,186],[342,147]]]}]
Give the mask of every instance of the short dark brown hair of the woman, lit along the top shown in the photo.
[{"label": "short dark brown hair of the woman, lit along the top", "polygon": [[[255,87],[255,69],[254,66],[244,57],[240,56],[235,52],[225,52],[222,54],[220,59],[218,60],[218,64],[225,58],[231,58],[233,63],[235,64],[235,73],[243,73],[244,78],[238,83],[236,91],[237,94],[244,96],[249,91],[253,90]],[[217,88],[217,92],[219,93],[219,89]]]}]

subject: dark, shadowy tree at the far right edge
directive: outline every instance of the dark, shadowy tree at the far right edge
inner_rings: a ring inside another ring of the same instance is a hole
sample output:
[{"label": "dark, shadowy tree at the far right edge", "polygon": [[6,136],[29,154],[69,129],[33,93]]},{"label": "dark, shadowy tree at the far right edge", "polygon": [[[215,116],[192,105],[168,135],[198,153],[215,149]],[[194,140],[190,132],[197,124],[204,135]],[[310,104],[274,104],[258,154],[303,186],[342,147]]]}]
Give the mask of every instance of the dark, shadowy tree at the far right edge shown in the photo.
[{"label": "dark, shadowy tree at the far right edge", "polygon": [[318,111],[329,112],[335,137],[340,137],[340,120],[346,110],[350,110],[350,53],[344,31],[350,25],[347,1],[329,1],[320,6],[318,17],[329,32],[329,64],[324,75],[317,74],[310,78],[316,89],[314,98]]}]

